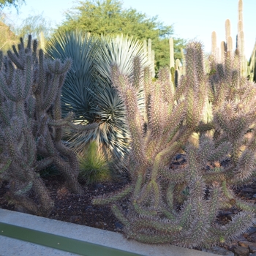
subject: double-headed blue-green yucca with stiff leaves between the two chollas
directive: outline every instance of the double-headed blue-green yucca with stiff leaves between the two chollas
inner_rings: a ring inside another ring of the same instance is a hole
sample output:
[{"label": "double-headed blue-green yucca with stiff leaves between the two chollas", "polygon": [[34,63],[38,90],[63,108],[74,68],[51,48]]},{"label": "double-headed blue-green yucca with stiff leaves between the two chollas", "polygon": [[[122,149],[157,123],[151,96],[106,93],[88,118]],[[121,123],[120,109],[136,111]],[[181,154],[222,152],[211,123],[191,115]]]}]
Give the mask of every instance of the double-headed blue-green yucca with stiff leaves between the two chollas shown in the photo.
[{"label": "double-headed blue-green yucca with stiff leaves between the two chollas", "polygon": [[146,64],[142,45],[123,36],[95,39],[82,31],[67,31],[51,39],[46,50],[53,59],[74,60],[62,89],[63,113],[71,110],[81,124],[99,124],[88,132],[67,130],[69,145],[80,152],[95,140],[106,156],[121,162],[129,151],[129,134],[124,102],[112,86],[110,70],[118,64],[121,72],[131,76],[134,56],[141,56]]}]

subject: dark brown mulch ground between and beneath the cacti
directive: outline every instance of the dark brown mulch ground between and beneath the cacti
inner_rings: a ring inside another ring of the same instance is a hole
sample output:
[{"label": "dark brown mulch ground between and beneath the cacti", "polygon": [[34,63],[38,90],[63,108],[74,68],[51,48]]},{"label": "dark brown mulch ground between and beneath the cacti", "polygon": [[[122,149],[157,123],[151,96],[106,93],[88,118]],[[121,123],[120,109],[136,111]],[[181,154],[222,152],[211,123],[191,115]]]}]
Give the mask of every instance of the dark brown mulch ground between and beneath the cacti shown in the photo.
[{"label": "dark brown mulch ground between and beneath the cacti", "polygon": [[[72,222],[78,225],[97,227],[114,232],[121,232],[123,225],[112,214],[110,207],[94,206],[91,203],[91,200],[97,195],[109,194],[110,192],[121,189],[127,184],[127,180],[88,186],[82,184],[84,195],[70,193],[69,190],[64,187],[64,180],[61,176],[48,176],[43,178],[43,180],[55,203],[53,211],[48,218],[64,222]],[[8,184],[5,182],[0,184],[0,208],[12,211],[23,211],[22,208],[8,203],[5,197],[8,187]],[[234,189],[234,192],[241,199],[250,203],[256,203],[256,182],[243,187],[238,187]],[[220,211],[217,220],[222,223],[222,225],[225,225],[227,222],[231,221],[233,214],[236,214],[237,212],[236,209]],[[223,245],[223,247],[226,248],[227,246]]]}]

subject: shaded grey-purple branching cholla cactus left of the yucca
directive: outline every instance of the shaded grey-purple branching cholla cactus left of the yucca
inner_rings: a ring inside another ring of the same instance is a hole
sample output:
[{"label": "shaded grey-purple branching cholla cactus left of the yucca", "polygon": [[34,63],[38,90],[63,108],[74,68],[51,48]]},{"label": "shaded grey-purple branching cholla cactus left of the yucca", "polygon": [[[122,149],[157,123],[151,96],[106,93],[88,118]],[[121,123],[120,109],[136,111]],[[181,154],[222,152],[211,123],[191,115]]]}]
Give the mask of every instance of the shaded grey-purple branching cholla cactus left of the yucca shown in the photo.
[{"label": "shaded grey-purple branching cholla cactus left of the yucca", "polygon": [[[45,59],[31,36],[26,47],[20,39],[18,49],[13,46],[7,56],[0,56],[1,161],[10,162],[0,178],[10,182],[13,203],[47,215],[53,200],[39,177],[42,168],[56,165],[69,189],[82,193],[76,155],[61,141],[62,127],[75,128],[71,114],[61,118],[60,105],[61,86],[71,60],[61,63]],[[39,155],[41,160],[37,160]],[[29,199],[31,190],[38,203]]]}]

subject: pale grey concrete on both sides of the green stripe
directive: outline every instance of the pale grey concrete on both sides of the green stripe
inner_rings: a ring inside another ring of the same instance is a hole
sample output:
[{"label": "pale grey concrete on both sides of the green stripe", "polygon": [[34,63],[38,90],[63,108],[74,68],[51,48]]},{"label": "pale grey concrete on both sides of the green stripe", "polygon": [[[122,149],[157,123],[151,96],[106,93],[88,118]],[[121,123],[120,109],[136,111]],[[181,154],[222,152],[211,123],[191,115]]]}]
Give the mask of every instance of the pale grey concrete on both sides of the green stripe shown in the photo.
[{"label": "pale grey concrete on both sides of the green stripe", "polygon": [[[37,217],[29,214],[22,214],[15,211],[7,211],[0,208],[0,222],[52,233],[59,236],[74,238],[80,241],[121,249],[145,256],[211,256],[214,254],[200,252],[194,249],[185,249],[173,245],[148,245],[140,244],[137,241],[128,241],[120,233],[107,230],[99,230],[94,227],[86,227],[68,222],[61,222],[54,219]],[[0,235],[2,230],[0,230]],[[52,249],[47,246],[31,244],[14,238],[0,236],[0,256],[51,256],[51,255],[75,255],[59,249]],[[105,256],[105,255],[95,255]]]}]

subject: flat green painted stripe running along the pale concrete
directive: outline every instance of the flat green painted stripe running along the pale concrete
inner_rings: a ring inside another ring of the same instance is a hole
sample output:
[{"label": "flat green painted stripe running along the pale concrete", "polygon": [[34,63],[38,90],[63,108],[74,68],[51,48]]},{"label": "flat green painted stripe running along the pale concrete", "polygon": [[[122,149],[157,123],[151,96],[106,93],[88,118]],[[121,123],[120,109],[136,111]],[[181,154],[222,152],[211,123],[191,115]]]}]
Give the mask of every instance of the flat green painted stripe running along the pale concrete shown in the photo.
[{"label": "flat green painted stripe running along the pale concrete", "polygon": [[72,252],[78,255],[139,256],[136,253],[125,252],[119,249],[110,248],[108,246],[102,246],[99,244],[76,240],[73,238],[53,235],[38,230],[31,230],[26,227],[18,227],[3,222],[0,222],[0,235],[39,244],[42,246],[48,246],[54,249],[60,249],[66,252]]}]

